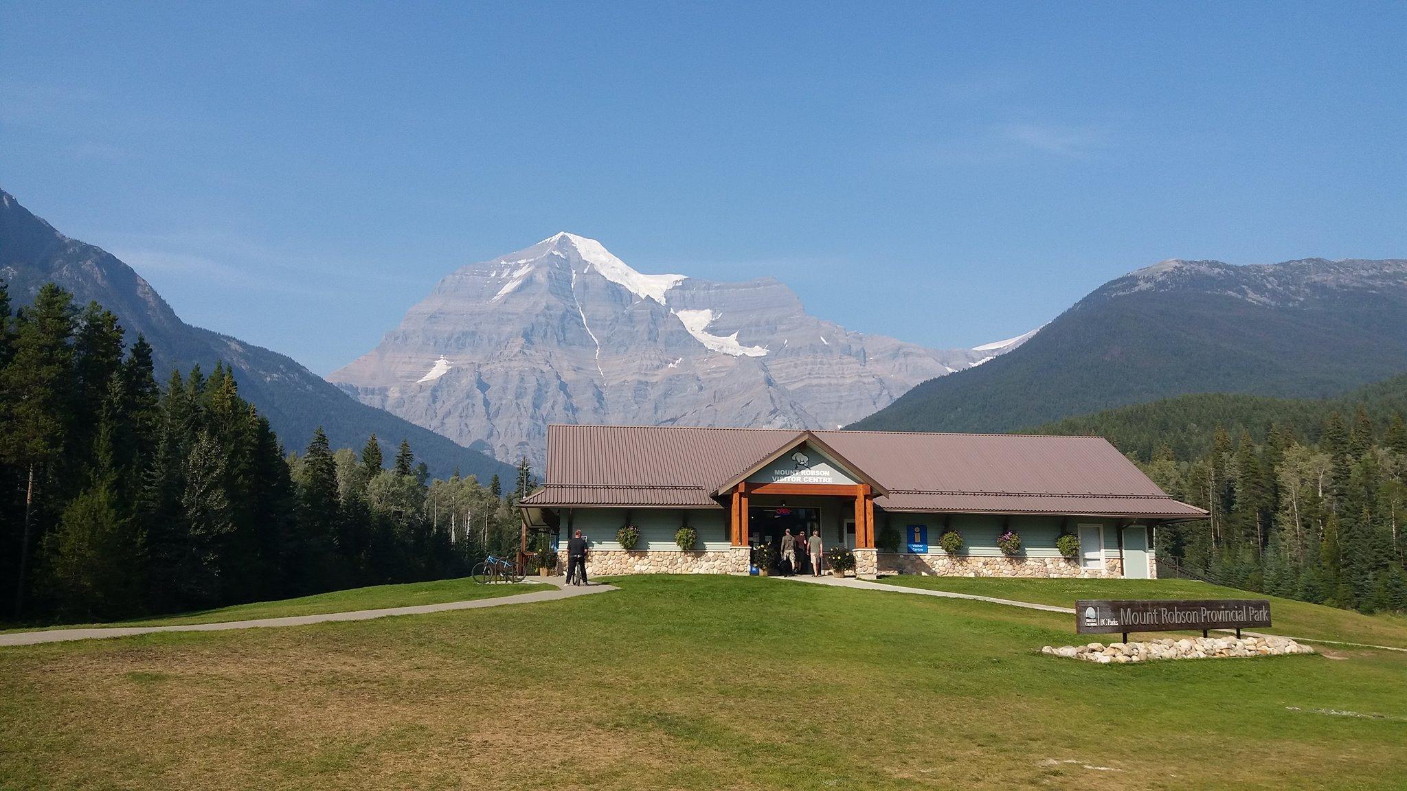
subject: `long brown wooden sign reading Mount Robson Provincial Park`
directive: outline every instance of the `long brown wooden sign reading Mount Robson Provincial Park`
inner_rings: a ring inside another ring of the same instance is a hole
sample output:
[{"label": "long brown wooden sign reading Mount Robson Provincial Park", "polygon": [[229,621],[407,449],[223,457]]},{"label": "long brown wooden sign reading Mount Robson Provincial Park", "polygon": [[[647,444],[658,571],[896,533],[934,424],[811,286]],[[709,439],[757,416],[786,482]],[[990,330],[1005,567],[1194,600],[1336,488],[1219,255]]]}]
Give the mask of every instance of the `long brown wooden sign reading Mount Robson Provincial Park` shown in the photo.
[{"label": "long brown wooden sign reading Mount Robson Provincial Park", "polygon": [[1180,632],[1262,628],[1271,625],[1271,602],[1263,598],[1213,600],[1081,600],[1075,602],[1075,633]]}]

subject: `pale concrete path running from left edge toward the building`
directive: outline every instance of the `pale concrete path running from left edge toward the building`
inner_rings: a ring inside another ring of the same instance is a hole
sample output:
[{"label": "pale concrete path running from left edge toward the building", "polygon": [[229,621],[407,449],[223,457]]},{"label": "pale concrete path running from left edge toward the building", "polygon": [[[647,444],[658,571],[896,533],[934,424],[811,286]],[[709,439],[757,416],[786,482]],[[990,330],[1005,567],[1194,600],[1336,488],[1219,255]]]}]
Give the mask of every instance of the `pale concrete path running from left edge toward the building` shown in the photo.
[{"label": "pale concrete path running from left edge toward the building", "polygon": [[225,621],[219,624],[180,624],[173,626],[93,626],[86,629],[10,632],[0,635],[0,646],[32,646],[38,643],[56,643],[63,640],[128,638],[132,635],[151,635],[155,632],[222,632],[225,629],[257,629],[263,626],[303,626],[305,624],[328,624],[332,621],[370,621],[373,618],[388,618],[391,615],[424,615],[426,612],[445,612],[449,609],[477,609],[480,607],[559,601],[563,598],[619,590],[613,586],[601,584],[581,587],[567,586],[566,578],[563,577],[546,577],[533,581],[554,584],[557,586],[557,590],[532,591],[495,598],[476,598],[470,601],[446,601],[442,604],[418,604],[414,607],[387,607],[383,609],[356,609],[352,612],[324,612],[319,615],[287,615],[284,618],[256,618],[253,621]]}]

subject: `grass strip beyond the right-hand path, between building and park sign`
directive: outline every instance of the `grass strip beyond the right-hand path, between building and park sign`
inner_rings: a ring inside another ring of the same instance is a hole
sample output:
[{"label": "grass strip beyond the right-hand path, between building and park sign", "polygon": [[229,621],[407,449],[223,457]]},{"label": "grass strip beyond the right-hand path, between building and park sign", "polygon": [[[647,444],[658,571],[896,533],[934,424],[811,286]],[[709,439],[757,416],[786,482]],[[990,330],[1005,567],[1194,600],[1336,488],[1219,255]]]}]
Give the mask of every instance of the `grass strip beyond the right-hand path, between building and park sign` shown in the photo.
[{"label": "grass strip beyond the right-hand path, between building and park sign", "polygon": [[[1272,635],[1407,649],[1407,618],[1363,615],[1290,598],[1224,588],[1196,580],[1013,580],[1005,577],[884,577],[881,583],[1075,607],[1081,598],[1268,598]],[[1097,636],[1095,638],[1097,639]],[[1117,638],[1114,638],[1117,639]],[[1086,640],[1088,642],[1088,640]]]}]

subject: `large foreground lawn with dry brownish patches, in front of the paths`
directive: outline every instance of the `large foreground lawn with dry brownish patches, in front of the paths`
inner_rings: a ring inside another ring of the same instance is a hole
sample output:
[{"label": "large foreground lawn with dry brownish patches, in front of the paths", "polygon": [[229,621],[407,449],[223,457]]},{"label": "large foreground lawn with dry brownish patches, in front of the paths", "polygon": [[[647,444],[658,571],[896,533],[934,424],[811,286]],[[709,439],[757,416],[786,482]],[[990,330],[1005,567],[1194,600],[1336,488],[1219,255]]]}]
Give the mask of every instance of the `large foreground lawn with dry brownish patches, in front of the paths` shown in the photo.
[{"label": "large foreground lawn with dry brownish patches, in front of the paths", "polygon": [[1038,653],[1071,642],[1059,614],[616,584],[0,649],[0,788],[1407,785],[1407,654],[1096,666]]}]

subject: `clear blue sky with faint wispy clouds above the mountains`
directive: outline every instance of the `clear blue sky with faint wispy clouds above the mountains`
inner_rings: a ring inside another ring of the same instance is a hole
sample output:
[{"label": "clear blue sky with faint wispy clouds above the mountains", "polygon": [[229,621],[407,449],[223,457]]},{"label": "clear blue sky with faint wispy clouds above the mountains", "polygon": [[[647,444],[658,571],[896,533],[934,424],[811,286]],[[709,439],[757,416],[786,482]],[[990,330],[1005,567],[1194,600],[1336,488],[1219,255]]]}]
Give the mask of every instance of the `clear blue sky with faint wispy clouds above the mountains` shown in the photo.
[{"label": "clear blue sky with faint wispy clouds above the mountains", "polygon": [[556,231],[847,328],[1407,256],[1407,4],[0,0],[0,187],[328,373]]}]

